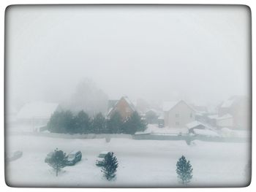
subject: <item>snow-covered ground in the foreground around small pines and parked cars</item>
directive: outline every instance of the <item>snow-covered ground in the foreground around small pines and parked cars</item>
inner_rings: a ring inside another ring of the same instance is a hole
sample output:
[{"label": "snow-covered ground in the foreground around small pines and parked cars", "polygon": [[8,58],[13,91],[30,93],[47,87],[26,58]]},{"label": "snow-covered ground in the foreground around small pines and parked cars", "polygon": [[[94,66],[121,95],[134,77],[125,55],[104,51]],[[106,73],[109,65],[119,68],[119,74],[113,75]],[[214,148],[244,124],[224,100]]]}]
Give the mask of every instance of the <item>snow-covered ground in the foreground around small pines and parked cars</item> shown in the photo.
[{"label": "snow-covered ground in the foreground around small pines and parked cars", "polygon": [[[192,164],[193,178],[187,186],[245,186],[249,179],[249,143],[133,139],[60,139],[10,135],[7,152],[21,150],[23,156],[6,166],[6,180],[12,186],[40,187],[182,187],[176,177],[176,162],[185,155]],[[45,164],[45,156],[58,147],[69,153],[81,150],[83,158],[59,174]],[[102,150],[116,154],[116,180],[107,181],[95,165]]]}]

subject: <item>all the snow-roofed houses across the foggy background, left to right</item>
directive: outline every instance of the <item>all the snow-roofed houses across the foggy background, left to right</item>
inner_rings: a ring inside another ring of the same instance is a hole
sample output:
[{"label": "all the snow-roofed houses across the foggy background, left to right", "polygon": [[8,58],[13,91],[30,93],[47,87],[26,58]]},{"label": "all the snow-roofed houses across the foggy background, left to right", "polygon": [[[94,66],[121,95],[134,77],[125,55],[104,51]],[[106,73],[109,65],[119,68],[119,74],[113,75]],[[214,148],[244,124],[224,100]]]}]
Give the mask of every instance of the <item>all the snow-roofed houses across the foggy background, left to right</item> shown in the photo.
[{"label": "all the snow-roofed houses across the foggy background, left to right", "polygon": [[[118,100],[108,101],[106,118],[119,112],[121,118],[129,118],[132,112],[137,111],[147,123],[157,124],[159,128],[232,128],[246,129],[250,126],[249,100],[241,96],[233,96],[223,101],[217,107],[217,113],[209,113],[207,107],[198,107],[188,104],[184,100],[165,101],[162,106],[138,109],[127,96]],[[50,116],[60,110],[59,104],[34,102],[25,104],[16,118],[18,123],[29,124],[32,128],[45,126]],[[192,127],[193,126],[193,127]]]}]

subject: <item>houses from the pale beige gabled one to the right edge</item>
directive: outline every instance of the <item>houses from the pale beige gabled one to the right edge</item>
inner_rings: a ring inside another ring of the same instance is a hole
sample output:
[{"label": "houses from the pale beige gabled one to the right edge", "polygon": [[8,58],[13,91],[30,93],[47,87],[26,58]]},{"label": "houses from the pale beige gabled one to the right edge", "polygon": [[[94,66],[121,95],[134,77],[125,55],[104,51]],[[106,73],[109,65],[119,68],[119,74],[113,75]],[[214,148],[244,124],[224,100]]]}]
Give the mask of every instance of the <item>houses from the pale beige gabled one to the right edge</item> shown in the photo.
[{"label": "houses from the pale beige gabled one to the right edge", "polygon": [[171,102],[163,105],[163,116],[159,125],[167,127],[186,127],[187,123],[199,121],[214,128],[248,129],[250,127],[249,100],[243,96],[233,96],[217,107],[212,114],[206,107],[195,107],[185,101]]}]

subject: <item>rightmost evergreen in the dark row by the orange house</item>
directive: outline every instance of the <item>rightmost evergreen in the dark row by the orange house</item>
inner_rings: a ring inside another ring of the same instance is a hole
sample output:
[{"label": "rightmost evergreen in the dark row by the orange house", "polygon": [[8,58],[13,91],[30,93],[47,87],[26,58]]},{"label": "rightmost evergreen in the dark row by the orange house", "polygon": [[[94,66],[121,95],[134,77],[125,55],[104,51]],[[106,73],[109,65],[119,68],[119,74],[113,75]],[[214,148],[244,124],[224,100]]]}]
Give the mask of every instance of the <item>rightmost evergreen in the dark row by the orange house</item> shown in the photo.
[{"label": "rightmost evergreen in the dark row by the orange house", "polygon": [[144,131],[147,124],[141,119],[138,112],[133,112],[123,125],[124,134],[135,134],[137,131]]}]

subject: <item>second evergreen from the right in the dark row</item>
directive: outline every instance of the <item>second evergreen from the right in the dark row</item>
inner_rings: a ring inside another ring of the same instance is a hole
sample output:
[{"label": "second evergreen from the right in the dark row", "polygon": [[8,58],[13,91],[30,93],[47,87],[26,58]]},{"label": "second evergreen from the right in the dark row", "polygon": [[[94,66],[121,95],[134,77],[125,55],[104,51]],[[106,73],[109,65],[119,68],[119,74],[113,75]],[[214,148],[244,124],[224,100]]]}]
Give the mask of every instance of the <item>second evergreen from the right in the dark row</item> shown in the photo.
[{"label": "second evergreen from the right in the dark row", "polygon": [[119,112],[113,113],[108,120],[107,128],[109,134],[120,134],[123,121]]}]

